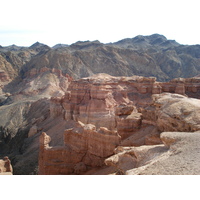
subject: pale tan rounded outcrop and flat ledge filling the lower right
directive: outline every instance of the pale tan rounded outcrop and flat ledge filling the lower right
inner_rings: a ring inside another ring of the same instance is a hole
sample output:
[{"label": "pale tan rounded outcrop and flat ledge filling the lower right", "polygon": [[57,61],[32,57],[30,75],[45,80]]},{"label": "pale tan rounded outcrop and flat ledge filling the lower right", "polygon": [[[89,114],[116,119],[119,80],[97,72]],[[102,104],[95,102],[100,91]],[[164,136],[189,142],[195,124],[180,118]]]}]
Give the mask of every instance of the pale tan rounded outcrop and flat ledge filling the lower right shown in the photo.
[{"label": "pale tan rounded outcrop and flat ledge filling the lower right", "polygon": [[[200,101],[171,93],[152,98],[153,103],[140,110],[143,119],[138,133],[140,140],[145,138],[143,144],[137,144],[134,133],[115,149],[115,155],[105,160],[106,165],[116,167],[117,174],[199,174]],[[144,129],[145,124],[151,126]],[[142,135],[143,130],[148,134]],[[156,142],[160,144],[152,145]]]}]

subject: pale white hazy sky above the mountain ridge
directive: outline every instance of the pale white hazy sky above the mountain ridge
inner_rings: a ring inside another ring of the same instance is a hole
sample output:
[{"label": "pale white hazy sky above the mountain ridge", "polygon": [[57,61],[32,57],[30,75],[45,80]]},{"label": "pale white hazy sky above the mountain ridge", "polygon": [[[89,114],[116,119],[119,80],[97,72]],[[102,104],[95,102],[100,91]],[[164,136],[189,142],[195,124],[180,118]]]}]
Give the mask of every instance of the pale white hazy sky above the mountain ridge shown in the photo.
[{"label": "pale white hazy sky above the mountain ridge", "polygon": [[4,0],[0,45],[115,42],[159,33],[200,44],[199,0]]}]

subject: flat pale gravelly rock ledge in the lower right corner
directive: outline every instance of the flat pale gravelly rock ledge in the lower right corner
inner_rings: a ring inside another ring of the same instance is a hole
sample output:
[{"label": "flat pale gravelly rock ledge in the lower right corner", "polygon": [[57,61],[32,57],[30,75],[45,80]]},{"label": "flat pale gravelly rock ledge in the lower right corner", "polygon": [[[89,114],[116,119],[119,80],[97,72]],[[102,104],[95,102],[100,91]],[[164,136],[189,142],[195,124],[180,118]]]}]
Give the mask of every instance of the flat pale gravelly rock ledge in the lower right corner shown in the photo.
[{"label": "flat pale gravelly rock ledge in the lower right corner", "polygon": [[[126,174],[199,175],[199,132],[164,132],[161,139],[169,150],[152,154],[150,162],[128,170]],[[154,149],[156,146],[153,147]],[[164,148],[164,147],[163,147]],[[155,155],[157,153],[157,155]]]}]

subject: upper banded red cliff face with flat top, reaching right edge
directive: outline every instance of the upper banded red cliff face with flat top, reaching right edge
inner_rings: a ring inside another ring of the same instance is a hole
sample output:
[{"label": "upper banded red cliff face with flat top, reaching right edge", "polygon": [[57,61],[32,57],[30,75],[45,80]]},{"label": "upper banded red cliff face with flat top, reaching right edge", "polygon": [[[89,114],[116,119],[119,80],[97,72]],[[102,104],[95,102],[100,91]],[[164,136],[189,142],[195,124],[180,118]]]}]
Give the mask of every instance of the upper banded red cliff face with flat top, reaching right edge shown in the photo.
[{"label": "upper banded red cliff face with flat top, reaching right edge", "polygon": [[64,113],[65,120],[82,121],[95,124],[97,128],[102,126],[115,130],[115,110],[120,104],[142,108],[152,103],[152,94],[170,92],[198,97],[199,89],[198,78],[159,83],[155,78],[98,74],[72,81],[64,97],[52,99],[51,111],[55,117]]}]

